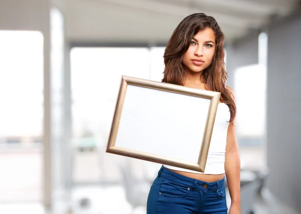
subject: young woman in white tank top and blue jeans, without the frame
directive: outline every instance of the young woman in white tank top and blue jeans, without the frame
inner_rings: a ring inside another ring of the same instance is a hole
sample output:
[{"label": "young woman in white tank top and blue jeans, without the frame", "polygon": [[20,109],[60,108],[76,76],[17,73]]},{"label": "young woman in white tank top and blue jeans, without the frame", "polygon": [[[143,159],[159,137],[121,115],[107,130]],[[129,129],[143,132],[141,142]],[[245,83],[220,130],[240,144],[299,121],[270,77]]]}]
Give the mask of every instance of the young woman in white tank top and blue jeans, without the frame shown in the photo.
[{"label": "young woman in white tank top and blue jeans, without the frame", "polygon": [[[233,90],[225,85],[224,34],[212,16],[195,13],[173,32],[164,53],[163,82],[221,92],[204,173],[163,165],[150,188],[147,214],[240,214],[240,157]],[[189,110],[189,109],[187,109]]]}]

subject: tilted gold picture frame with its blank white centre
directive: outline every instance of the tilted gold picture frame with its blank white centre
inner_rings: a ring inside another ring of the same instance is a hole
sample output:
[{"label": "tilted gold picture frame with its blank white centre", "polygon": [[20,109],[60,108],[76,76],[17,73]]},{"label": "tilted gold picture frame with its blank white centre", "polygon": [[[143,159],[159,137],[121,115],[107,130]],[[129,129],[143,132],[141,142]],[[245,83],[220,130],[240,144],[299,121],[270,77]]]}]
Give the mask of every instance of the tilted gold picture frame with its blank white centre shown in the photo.
[{"label": "tilted gold picture frame with its blank white centre", "polygon": [[219,100],[220,92],[122,75],[106,152],[204,172]]}]

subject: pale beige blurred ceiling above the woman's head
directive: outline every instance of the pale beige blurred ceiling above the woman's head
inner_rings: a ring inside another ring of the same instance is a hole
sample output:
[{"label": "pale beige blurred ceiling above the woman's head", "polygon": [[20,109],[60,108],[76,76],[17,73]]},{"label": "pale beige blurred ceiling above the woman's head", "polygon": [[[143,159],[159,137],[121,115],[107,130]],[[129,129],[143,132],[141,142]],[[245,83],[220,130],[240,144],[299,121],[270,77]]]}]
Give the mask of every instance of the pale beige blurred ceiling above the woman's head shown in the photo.
[{"label": "pale beige blurred ceiling above the woman's head", "polygon": [[286,16],[300,0],[54,0],[64,14],[66,35],[82,43],[166,43],[178,23],[194,12],[216,18],[235,40]]}]

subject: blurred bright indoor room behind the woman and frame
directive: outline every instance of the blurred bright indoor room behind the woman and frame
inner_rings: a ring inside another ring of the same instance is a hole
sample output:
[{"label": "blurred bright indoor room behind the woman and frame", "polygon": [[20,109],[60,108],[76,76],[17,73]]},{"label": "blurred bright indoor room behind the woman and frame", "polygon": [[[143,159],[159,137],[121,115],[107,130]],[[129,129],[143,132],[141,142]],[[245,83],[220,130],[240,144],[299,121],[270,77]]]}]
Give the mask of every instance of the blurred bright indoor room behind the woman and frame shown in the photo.
[{"label": "blurred bright indoor room behind the woman and frame", "polygon": [[1,214],[145,214],[161,165],[105,153],[120,76],[160,81],[194,12],[226,36],[242,213],[301,213],[299,0],[1,0]]}]

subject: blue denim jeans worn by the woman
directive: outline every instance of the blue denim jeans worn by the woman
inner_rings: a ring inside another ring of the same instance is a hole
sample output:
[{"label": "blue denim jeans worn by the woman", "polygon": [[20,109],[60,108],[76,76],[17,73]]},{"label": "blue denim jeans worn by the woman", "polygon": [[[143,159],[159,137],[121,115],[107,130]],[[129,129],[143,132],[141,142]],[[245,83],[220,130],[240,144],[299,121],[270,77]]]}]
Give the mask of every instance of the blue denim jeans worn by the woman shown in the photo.
[{"label": "blue denim jeans worn by the woman", "polygon": [[204,182],[173,172],[158,172],[147,198],[147,214],[226,214],[225,178]]}]

